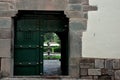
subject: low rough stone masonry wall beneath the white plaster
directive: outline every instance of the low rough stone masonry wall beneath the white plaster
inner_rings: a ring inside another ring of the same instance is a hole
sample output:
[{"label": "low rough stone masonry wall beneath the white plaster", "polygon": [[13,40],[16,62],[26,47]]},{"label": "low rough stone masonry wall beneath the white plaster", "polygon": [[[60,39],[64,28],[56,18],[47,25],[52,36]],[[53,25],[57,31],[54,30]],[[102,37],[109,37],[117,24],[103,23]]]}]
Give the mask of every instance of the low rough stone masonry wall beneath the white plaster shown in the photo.
[{"label": "low rough stone masonry wall beneath the white plaster", "polygon": [[81,58],[80,78],[93,80],[120,80],[120,60]]}]

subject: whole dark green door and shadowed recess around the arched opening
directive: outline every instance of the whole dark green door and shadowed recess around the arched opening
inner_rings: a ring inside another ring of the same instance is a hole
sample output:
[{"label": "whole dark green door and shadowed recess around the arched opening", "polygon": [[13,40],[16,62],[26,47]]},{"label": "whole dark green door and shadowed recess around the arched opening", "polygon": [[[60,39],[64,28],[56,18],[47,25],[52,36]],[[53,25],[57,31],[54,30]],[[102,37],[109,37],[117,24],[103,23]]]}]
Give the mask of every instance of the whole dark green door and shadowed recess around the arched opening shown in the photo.
[{"label": "whole dark green door and shadowed recess around the arched opening", "polygon": [[68,23],[62,11],[19,11],[14,17],[14,75],[43,73],[43,35],[55,32],[61,40],[61,74],[68,75]]}]

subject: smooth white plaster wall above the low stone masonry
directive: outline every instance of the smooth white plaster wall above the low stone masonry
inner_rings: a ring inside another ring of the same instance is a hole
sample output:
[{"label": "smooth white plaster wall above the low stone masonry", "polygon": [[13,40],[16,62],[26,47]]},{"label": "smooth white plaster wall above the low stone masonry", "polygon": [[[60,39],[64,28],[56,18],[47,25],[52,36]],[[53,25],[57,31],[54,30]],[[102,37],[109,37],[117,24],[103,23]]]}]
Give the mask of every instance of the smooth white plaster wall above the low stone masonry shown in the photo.
[{"label": "smooth white plaster wall above the low stone masonry", "polygon": [[120,0],[90,0],[98,11],[89,12],[83,34],[83,57],[120,58]]}]

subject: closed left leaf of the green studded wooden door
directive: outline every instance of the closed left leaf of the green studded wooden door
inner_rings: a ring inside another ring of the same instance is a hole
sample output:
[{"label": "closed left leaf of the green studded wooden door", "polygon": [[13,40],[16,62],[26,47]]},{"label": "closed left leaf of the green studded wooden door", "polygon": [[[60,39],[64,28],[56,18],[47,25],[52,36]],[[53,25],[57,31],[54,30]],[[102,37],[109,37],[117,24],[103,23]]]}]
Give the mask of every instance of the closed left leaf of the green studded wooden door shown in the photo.
[{"label": "closed left leaf of the green studded wooden door", "polygon": [[43,33],[40,20],[21,18],[15,27],[15,75],[42,75],[43,73]]}]

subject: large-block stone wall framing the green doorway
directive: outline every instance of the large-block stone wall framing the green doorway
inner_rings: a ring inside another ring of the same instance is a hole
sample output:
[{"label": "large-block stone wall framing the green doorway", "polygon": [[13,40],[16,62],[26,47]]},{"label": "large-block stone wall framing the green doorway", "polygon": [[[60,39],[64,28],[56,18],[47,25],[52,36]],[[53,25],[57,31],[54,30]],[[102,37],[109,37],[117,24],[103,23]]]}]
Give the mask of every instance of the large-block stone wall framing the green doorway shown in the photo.
[{"label": "large-block stone wall framing the green doorway", "polygon": [[[87,29],[87,13],[96,10],[89,0],[0,0],[1,76],[13,76],[14,22],[19,10],[64,11],[69,21],[69,76],[79,77],[82,33]],[[75,74],[74,74],[75,73]]]}]

